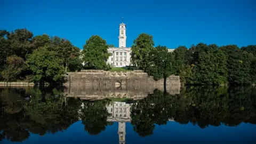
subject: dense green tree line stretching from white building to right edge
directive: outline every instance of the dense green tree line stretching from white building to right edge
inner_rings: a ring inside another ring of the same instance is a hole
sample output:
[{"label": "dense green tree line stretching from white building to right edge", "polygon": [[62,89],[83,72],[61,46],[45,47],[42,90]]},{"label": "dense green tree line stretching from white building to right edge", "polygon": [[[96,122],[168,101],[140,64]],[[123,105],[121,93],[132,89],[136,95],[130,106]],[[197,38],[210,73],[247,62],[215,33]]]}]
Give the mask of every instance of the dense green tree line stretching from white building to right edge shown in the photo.
[{"label": "dense green tree line stretching from white building to right edge", "polygon": [[154,47],[152,36],[140,34],[131,49],[133,65],[156,80],[179,75],[183,84],[190,85],[256,83],[256,45],[239,49],[236,45],[198,43],[168,52],[166,46]]}]

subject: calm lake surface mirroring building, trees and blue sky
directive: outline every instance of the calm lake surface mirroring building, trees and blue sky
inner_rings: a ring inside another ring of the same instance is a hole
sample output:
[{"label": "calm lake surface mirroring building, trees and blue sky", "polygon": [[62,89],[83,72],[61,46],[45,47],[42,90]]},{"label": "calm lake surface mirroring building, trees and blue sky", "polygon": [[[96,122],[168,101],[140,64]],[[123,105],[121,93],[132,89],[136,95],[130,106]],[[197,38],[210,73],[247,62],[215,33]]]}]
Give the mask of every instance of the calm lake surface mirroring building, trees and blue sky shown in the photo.
[{"label": "calm lake surface mirroring building, trees and blue sky", "polygon": [[256,87],[0,87],[0,105],[0,143],[256,142]]}]

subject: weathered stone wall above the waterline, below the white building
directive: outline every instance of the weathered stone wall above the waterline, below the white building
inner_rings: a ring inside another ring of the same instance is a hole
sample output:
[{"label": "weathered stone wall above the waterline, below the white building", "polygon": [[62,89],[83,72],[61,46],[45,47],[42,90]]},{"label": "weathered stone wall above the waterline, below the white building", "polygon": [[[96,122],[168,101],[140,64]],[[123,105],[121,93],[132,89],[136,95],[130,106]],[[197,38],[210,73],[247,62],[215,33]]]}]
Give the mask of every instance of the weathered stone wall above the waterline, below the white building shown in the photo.
[{"label": "weathered stone wall above the waterline, below the white building", "polygon": [[[68,84],[87,85],[114,85],[116,82],[122,85],[163,85],[164,80],[155,81],[153,77],[141,71],[110,72],[102,70],[83,70],[82,72],[68,73]],[[170,76],[166,79],[166,85],[180,85],[179,76]]]}]

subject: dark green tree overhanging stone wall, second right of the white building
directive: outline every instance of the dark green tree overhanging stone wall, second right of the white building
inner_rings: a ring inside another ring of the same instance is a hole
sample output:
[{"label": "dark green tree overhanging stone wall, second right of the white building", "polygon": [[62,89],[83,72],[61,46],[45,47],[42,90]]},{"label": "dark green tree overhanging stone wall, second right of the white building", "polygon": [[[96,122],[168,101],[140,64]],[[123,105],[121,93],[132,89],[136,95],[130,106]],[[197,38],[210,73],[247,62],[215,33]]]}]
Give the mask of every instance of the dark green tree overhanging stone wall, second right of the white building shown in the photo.
[{"label": "dark green tree overhanging stone wall, second right of the white building", "polygon": [[155,80],[164,78],[164,85],[166,85],[166,78],[175,74],[175,62],[173,54],[168,52],[166,46],[157,46],[149,52],[148,66],[146,72],[150,76],[154,76]]}]

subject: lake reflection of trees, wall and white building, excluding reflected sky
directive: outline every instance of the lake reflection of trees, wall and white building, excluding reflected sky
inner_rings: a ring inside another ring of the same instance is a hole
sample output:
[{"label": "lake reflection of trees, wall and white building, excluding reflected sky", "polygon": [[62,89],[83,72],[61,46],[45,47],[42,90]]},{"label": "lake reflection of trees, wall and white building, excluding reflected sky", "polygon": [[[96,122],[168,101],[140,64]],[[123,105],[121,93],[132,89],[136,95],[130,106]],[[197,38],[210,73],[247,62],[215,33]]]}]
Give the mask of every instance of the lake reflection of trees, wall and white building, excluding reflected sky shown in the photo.
[{"label": "lake reflection of trees, wall and white building, excluding reflected sky", "polygon": [[256,123],[255,87],[157,88],[1,87],[0,139],[21,142],[31,133],[63,132],[78,121],[91,135],[117,122],[119,143],[126,141],[127,123],[141,137],[169,121],[202,129]]}]

